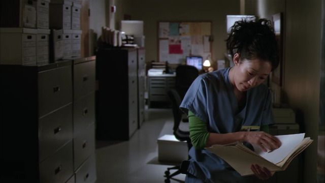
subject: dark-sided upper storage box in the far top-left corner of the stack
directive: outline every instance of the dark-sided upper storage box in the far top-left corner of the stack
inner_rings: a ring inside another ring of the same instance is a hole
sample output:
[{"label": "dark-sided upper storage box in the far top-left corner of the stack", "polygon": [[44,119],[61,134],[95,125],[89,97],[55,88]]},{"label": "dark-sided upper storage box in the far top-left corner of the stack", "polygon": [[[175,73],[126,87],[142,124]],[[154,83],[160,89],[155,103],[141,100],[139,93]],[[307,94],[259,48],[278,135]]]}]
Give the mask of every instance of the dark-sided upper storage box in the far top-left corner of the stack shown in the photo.
[{"label": "dark-sided upper storage box in the far top-left corner of the stack", "polygon": [[0,27],[36,28],[36,0],[3,0],[0,7]]}]

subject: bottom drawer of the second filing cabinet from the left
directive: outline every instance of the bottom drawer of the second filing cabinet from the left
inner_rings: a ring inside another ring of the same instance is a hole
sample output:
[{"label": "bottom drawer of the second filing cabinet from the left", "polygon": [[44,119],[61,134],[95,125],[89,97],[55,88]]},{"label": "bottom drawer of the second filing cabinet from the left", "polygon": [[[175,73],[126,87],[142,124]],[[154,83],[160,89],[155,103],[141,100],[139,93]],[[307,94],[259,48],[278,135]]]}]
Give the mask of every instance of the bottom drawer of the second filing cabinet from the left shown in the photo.
[{"label": "bottom drawer of the second filing cabinet from the left", "polygon": [[92,154],[76,171],[76,183],[96,181],[95,154]]}]

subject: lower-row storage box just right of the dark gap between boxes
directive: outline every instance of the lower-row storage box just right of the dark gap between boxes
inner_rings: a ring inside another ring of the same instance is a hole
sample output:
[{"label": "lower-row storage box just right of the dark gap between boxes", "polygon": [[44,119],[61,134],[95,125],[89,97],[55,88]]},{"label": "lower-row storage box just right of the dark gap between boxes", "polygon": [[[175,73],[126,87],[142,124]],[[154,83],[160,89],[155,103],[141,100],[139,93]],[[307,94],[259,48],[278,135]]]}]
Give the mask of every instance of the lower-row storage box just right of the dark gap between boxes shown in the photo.
[{"label": "lower-row storage box just right of the dark gap between boxes", "polygon": [[52,30],[51,42],[50,42],[50,58],[51,61],[56,61],[63,58],[63,41],[62,41],[63,30]]}]

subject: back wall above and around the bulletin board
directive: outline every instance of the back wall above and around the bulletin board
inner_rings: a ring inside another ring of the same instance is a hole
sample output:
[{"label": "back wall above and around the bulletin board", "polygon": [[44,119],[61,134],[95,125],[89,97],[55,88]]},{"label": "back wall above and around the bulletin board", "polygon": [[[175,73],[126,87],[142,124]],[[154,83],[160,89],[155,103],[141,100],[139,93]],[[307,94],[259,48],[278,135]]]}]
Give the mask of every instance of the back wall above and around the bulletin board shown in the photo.
[{"label": "back wall above and around the bulletin board", "polygon": [[[120,0],[119,0],[120,1]],[[119,7],[116,1],[117,9]],[[123,3],[126,0],[122,1]],[[133,0],[127,1],[132,8],[132,20],[144,21],[146,62],[157,61],[157,22],[158,21],[212,21],[213,60],[224,58],[226,39],[226,14],[239,14],[239,0]],[[123,4],[122,3],[122,4]],[[127,4],[124,3],[127,7]],[[116,15],[117,16],[117,15]],[[116,18],[116,21],[121,18]]]}]

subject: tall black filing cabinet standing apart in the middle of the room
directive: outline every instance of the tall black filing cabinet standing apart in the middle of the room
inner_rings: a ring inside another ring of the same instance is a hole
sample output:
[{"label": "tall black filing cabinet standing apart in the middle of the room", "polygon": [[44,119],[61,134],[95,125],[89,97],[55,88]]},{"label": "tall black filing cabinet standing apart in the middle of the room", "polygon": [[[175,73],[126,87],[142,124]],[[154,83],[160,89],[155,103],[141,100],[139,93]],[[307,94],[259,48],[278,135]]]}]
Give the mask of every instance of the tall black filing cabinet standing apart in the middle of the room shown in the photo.
[{"label": "tall black filing cabinet standing apart in the middle of the room", "polygon": [[96,55],[96,137],[128,140],[138,128],[137,49],[104,48]]}]

